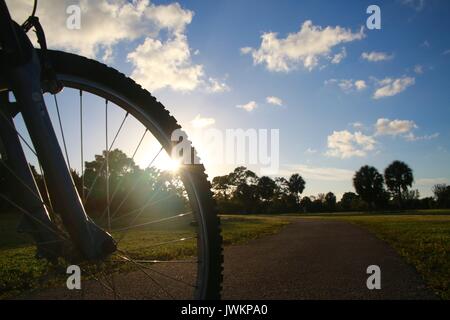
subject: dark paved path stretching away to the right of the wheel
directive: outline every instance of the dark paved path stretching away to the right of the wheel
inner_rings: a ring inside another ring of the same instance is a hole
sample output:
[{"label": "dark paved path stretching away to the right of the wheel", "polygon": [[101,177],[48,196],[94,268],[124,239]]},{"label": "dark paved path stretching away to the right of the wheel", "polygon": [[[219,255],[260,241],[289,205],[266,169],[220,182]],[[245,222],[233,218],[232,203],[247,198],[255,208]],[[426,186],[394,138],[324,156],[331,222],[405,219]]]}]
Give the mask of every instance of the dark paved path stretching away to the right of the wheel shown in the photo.
[{"label": "dark paved path stretching away to the right of the wheel", "polygon": [[[434,299],[385,242],[343,221],[295,219],[279,234],[225,249],[224,299]],[[366,269],[381,269],[368,290]]]}]

